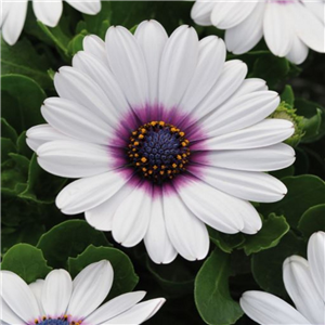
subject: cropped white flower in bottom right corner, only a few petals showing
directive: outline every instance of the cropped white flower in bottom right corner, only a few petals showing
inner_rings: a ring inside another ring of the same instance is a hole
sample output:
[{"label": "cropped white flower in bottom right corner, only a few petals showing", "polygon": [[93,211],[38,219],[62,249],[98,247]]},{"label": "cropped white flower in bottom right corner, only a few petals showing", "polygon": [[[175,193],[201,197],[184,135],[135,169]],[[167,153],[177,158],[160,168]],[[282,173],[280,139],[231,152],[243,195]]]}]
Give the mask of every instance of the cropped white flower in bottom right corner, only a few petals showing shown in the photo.
[{"label": "cropped white flower in bottom right corner, only a few petals showing", "polygon": [[308,261],[291,256],[284,261],[283,280],[296,309],[262,291],[246,291],[244,312],[263,325],[325,324],[325,233],[314,233],[308,243]]}]

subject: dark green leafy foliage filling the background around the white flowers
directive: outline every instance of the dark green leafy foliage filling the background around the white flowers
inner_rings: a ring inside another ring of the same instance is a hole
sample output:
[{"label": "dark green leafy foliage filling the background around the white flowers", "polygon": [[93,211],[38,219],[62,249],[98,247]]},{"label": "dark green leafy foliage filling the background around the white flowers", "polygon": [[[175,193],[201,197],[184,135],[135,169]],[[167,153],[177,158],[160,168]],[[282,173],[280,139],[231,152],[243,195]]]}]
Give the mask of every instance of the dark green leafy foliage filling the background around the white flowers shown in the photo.
[{"label": "dark green leafy foliage filling the background around the white flowers", "polygon": [[[300,66],[273,56],[263,41],[238,57],[249,77],[263,78],[282,93],[286,105],[303,116],[303,138],[292,167],[274,172],[288,187],[280,203],[257,205],[263,229],[256,236],[224,235],[209,230],[211,252],[204,261],[178,258],[169,265],[150,261],[143,244],[126,249],[109,233],[89,226],[82,214],[64,216],[54,199],[67,180],[51,176],[37,164],[25,142],[26,130],[43,122],[40,106],[55,95],[52,78],[70,65],[88,34],[104,38],[110,25],[131,30],[143,20],[159,21],[170,34],[190,24],[193,2],[182,0],[102,0],[96,16],[82,15],[65,4],[55,28],[37,22],[31,8],[20,41],[0,40],[0,180],[1,264],[27,283],[44,277],[52,268],[75,276],[89,263],[106,258],[115,270],[108,298],[135,289],[147,298],[166,297],[167,303],[146,324],[253,324],[237,303],[248,289],[263,289],[287,301],[282,263],[292,253],[306,257],[309,236],[325,231],[325,80],[324,56],[310,53]],[[223,36],[214,27],[195,26],[199,37]],[[177,216],[176,216],[177,218]],[[195,240],[195,238],[193,238]],[[289,301],[290,302],[290,301]]]}]

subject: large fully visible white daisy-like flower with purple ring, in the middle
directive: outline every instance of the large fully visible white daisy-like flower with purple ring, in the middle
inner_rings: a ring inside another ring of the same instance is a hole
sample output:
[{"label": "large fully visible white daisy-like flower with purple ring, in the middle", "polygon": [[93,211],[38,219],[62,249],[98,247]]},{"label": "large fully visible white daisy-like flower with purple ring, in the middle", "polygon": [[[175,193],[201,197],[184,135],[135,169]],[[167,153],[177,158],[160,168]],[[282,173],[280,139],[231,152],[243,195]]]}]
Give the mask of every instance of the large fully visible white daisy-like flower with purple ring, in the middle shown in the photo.
[{"label": "large fully visible white daisy-like flower with purple ring, in the middle", "polygon": [[292,123],[265,119],[278,95],[247,66],[225,60],[221,39],[198,41],[188,26],[168,38],[155,21],[133,36],[110,27],[54,77],[60,98],[41,107],[48,125],[27,132],[40,166],[81,178],[57,196],[67,214],[84,212],[98,230],[131,247],[144,238],[157,263],[179,252],[203,259],[206,224],[255,234],[248,200],[275,202],[286,187],[263,173],[294,161],[280,143]]}]

